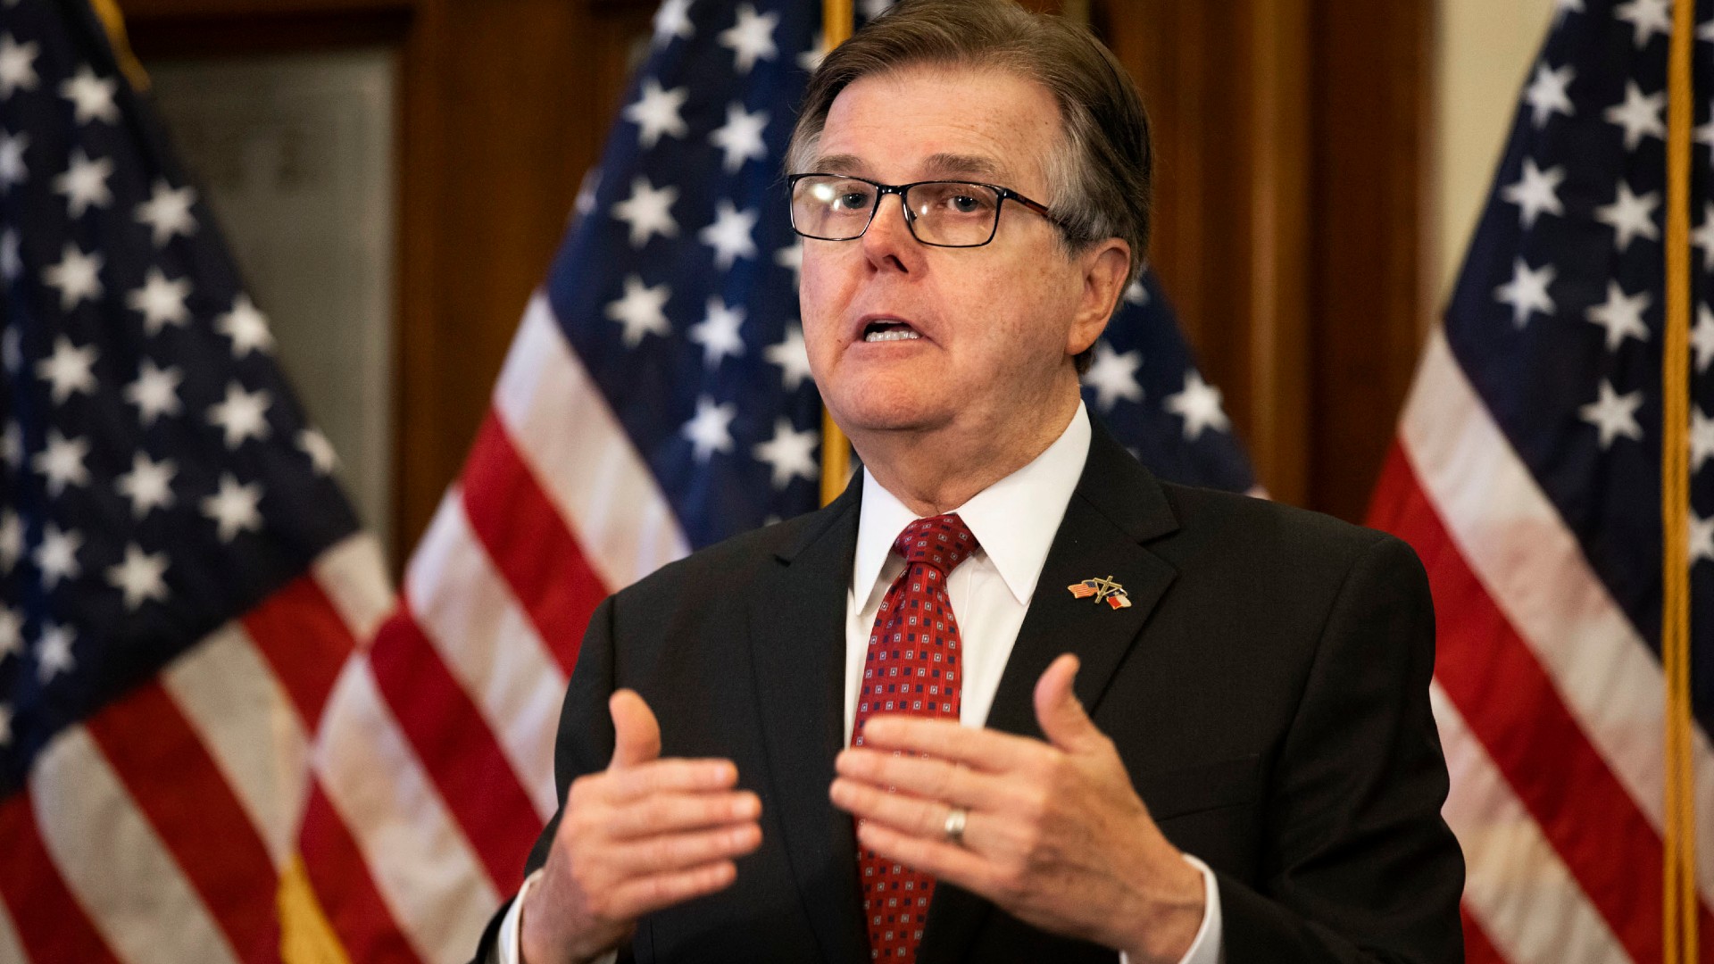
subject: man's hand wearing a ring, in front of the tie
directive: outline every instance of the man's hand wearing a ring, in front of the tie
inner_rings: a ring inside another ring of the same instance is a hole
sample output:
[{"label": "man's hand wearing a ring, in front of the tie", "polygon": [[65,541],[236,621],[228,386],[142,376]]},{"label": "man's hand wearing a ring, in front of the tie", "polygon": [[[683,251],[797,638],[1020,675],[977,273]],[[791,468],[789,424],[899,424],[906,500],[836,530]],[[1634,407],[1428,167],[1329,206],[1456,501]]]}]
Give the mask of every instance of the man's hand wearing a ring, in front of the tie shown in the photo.
[{"label": "man's hand wearing a ring, in front of the tie", "polygon": [[[1202,875],[1155,827],[1061,655],[1035,684],[1049,743],[951,720],[871,717],[830,796],[878,854],[987,897],[1042,930],[1176,962],[1202,925]],[[963,844],[946,815],[968,811]]]}]

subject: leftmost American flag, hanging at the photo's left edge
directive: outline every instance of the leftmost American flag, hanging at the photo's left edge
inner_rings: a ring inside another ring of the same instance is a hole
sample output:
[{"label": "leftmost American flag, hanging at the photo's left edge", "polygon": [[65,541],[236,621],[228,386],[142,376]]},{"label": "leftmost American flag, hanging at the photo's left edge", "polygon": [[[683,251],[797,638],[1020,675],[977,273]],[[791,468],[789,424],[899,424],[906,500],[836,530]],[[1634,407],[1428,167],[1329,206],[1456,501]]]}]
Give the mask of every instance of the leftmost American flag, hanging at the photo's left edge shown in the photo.
[{"label": "leftmost American flag, hanging at the photo's left edge", "polygon": [[0,961],[276,961],[391,588],[81,0],[0,5]]}]

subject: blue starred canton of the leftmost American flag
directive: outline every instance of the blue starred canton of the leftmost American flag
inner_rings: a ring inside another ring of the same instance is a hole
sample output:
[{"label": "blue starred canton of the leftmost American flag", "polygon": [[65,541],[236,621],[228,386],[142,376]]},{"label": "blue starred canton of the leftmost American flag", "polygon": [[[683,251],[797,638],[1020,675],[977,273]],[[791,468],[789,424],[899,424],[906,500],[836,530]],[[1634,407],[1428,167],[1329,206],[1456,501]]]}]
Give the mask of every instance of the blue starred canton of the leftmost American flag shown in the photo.
[{"label": "blue starred canton of the leftmost American flag", "polygon": [[0,7],[0,796],[357,530],[84,3]]}]

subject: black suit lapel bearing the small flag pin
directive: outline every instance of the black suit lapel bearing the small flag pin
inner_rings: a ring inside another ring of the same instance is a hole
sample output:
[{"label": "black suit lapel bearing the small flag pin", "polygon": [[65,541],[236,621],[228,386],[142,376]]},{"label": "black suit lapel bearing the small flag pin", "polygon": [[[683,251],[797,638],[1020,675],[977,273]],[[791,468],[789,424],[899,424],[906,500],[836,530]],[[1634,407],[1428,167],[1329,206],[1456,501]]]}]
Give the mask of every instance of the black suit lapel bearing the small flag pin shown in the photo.
[{"label": "black suit lapel bearing the small flag pin", "polygon": [[[1035,722],[1035,681],[1059,654],[1076,654],[1075,690],[1094,712],[1112,674],[1131,650],[1148,614],[1176,571],[1143,547],[1172,528],[1172,509],[1159,482],[1090,417],[1094,436],[1083,477],[1066,506],[1030,611],[1006,660],[987,727],[1042,738]],[[1094,597],[1076,599],[1070,585],[1112,578],[1131,600],[1112,609]],[[951,885],[936,885],[917,961],[960,961],[992,904]]]}]

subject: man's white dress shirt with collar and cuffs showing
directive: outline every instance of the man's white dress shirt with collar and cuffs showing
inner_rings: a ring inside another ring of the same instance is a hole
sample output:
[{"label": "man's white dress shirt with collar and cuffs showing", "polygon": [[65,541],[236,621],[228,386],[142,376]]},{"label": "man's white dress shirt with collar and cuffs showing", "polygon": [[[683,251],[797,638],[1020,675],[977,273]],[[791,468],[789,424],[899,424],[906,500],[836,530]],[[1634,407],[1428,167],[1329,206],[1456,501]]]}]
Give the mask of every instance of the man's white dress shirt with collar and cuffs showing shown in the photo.
[{"label": "man's white dress shirt with collar and cuffs showing", "polygon": [[[946,576],[946,595],[958,618],[963,643],[963,690],[958,710],[958,722],[963,726],[980,727],[987,722],[987,710],[999,690],[1011,645],[1018,640],[1018,628],[1023,626],[1023,616],[1030,609],[1047,549],[1083,475],[1088,439],[1088,412],[1078,403],[1071,424],[1054,444],[1047,446],[1047,451],[953,509],[980,545]],[[857,554],[845,602],[845,744],[850,744],[852,720],[857,715],[857,690],[869,655],[874,616],[888,587],[905,569],[905,559],[893,552],[893,540],[917,518],[898,497],[883,489],[867,468],[864,470]],[[1217,964],[1224,959],[1220,890],[1207,865],[1191,856],[1184,859],[1202,871],[1207,909],[1196,940],[1179,964]],[[524,882],[519,899],[500,923],[499,964],[523,961],[518,950],[518,909],[533,880],[535,875]],[[605,955],[598,964],[610,964],[615,957],[617,954]]]}]

